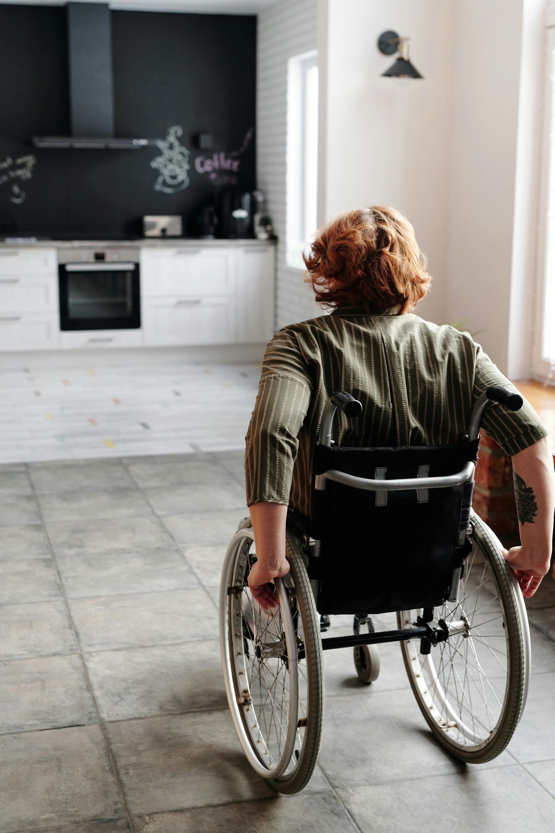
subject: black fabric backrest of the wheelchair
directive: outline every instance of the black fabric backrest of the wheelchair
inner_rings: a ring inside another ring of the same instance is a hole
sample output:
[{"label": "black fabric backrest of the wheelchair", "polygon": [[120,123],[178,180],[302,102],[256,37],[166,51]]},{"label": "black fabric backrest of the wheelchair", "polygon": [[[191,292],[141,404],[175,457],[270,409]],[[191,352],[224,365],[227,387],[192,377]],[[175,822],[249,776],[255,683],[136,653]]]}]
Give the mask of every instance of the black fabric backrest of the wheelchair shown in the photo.
[{"label": "black fabric backrest of the wheelchair", "polygon": [[[456,446],[352,448],[317,446],[315,474],[329,469],[387,480],[455,474],[478,458],[478,441]],[[310,577],[320,580],[320,613],[384,613],[438,606],[448,595],[455,565],[466,548],[458,533],[468,526],[473,483],[442,489],[387,492],[326,481],[314,491],[311,535],[321,541],[320,557],[310,561]],[[382,495],[385,493],[382,492]]]}]

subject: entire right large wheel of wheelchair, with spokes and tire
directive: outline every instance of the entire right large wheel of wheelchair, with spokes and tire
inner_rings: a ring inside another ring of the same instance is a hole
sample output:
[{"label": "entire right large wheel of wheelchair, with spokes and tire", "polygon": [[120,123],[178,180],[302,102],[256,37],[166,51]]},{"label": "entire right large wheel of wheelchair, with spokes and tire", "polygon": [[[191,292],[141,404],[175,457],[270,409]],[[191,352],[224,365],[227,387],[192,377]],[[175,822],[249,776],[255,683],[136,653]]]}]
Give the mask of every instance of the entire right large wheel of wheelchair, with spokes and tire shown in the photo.
[{"label": "entire right large wheel of wheelchair, with spokes and tire", "polygon": [[[461,761],[481,764],[505,749],[526,702],[530,634],[523,596],[501,544],[473,514],[473,549],[458,603],[435,608],[448,639],[420,653],[419,640],[402,642],[410,685],[434,735]],[[399,611],[399,628],[421,611]],[[434,622],[430,622],[434,625]]]}]

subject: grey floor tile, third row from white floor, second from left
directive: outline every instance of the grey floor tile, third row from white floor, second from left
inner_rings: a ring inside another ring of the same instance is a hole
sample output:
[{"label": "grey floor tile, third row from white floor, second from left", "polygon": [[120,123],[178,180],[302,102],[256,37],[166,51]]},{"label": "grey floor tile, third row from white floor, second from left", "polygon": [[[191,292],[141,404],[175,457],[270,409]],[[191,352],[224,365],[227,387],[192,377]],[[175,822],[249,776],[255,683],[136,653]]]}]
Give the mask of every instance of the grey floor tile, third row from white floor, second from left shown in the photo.
[{"label": "grey floor tile, third row from white floor, second from left", "polygon": [[153,515],[102,518],[102,524],[97,520],[47,521],[46,526],[57,553],[167,549],[174,543],[161,521]]}]

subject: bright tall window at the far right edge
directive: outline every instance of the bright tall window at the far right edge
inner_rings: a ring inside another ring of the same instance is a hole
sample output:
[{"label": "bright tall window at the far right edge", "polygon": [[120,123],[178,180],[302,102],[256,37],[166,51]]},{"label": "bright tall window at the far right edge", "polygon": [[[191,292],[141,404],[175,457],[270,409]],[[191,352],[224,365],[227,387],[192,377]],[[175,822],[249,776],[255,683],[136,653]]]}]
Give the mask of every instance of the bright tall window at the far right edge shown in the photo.
[{"label": "bright tall window at the far right edge", "polygon": [[548,7],[547,91],[543,141],[543,195],[534,375],[555,377],[555,2]]}]

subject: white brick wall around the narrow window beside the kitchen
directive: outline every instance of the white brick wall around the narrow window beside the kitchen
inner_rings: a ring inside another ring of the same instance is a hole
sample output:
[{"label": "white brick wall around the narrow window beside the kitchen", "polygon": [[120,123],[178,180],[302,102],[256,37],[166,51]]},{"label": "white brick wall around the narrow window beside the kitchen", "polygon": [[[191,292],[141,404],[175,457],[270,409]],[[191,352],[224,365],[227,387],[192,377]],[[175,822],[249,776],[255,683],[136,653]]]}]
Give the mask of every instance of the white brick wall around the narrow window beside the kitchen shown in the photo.
[{"label": "white brick wall around the narrow window beside the kitchen", "polygon": [[287,61],[316,48],[317,0],[278,0],[258,16],[257,178],[278,237],[276,327],[321,314],[303,272],[285,262]]}]

